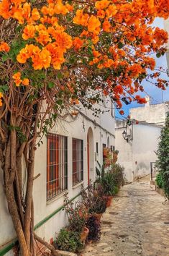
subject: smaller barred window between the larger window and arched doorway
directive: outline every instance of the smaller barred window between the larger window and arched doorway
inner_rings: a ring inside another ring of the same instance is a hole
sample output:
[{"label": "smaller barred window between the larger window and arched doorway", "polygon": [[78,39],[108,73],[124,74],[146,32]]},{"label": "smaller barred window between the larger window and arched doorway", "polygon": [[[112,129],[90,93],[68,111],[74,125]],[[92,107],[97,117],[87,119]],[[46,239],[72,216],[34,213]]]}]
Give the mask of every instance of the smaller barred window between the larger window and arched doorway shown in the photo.
[{"label": "smaller barred window between the larger window and arched doorway", "polygon": [[72,140],[73,186],[83,181],[83,140]]}]

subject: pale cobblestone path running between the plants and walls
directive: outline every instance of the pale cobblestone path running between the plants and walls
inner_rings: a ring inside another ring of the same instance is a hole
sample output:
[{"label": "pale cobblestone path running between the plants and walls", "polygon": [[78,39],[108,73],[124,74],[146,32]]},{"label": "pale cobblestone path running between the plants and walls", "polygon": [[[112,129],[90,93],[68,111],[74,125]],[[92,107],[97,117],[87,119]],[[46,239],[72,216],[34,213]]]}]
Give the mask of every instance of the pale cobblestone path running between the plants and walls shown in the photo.
[{"label": "pale cobblestone path running between the plants and walls", "polygon": [[169,256],[169,203],[150,182],[122,187],[101,220],[101,241],[83,256]]}]

